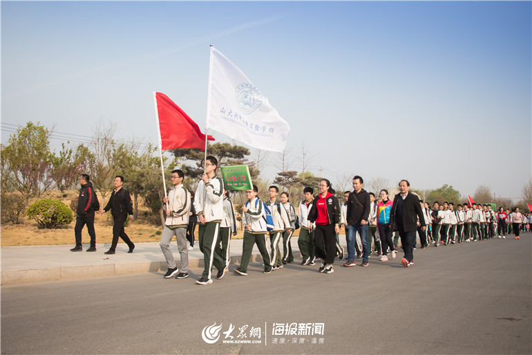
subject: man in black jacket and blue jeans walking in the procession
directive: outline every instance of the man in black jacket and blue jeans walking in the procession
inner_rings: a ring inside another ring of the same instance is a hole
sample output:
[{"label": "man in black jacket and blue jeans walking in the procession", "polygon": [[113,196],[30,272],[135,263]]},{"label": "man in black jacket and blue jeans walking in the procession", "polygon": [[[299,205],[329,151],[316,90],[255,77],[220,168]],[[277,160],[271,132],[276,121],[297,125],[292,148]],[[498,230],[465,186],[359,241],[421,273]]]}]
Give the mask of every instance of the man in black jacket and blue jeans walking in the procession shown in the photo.
[{"label": "man in black jacket and blue jeans walking in the procession", "polygon": [[348,237],[348,261],[343,266],[355,266],[354,262],[354,244],[357,238],[357,232],[362,242],[362,266],[368,266],[370,257],[370,243],[368,239],[370,216],[370,194],[362,187],[364,181],[361,176],[353,178],[353,192],[348,197],[348,208],[345,212],[347,222],[346,233]]}]

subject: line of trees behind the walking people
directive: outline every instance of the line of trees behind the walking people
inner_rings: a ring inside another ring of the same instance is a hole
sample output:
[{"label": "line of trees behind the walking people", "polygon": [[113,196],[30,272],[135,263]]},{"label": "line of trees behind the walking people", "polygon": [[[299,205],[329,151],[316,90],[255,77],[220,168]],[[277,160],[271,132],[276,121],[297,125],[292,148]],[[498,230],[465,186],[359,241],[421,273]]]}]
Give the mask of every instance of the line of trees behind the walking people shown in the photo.
[{"label": "line of trees behind the walking people", "polygon": [[[164,222],[162,215],[162,172],[158,147],[144,145],[140,142],[124,142],[115,139],[116,127],[112,123],[104,125],[102,122],[95,127],[93,136],[88,144],[70,143],[61,144],[61,149],[50,149],[50,135],[53,129],[48,129],[39,122],[27,122],[26,126],[17,129],[12,134],[6,145],[0,145],[1,181],[0,193],[3,197],[3,208],[18,206],[19,210],[28,205],[30,197],[47,195],[51,190],[72,190],[77,188],[79,175],[87,173],[103,201],[113,190],[115,175],[126,178],[124,185],[131,192],[135,218],[138,216],[138,203],[142,201],[148,208],[155,224]],[[220,166],[247,165],[251,173],[251,179],[258,185],[261,199],[267,199],[267,188],[270,181],[260,175],[263,164],[268,160],[268,152],[258,151],[255,157],[247,147],[231,145],[229,143],[213,143],[209,145],[209,155],[216,156]],[[302,165],[302,171],[290,169],[293,163],[289,159],[289,151],[278,154],[278,170],[272,185],[289,193],[290,201],[298,206],[301,201],[301,191],[305,186],[317,187],[320,177],[308,171],[309,155],[305,146],[302,145],[301,158],[298,161]],[[184,185],[189,190],[195,190],[203,172],[205,152],[199,149],[173,149],[172,158],[163,156],[164,176],[167,188],[171,186],[169,176],[173,169],[181,169],[189,177]],[[352,190],[352,175],[344,174],[336,182],[336,194],[343,197],[345,190]],[[390,188],[393,184],[385,178],[373,178],[365,181],[365,190],[378,192],[383,188]],[[464,203],[466,197],[453,188],[452,185],[443,185],[434,190],[413,190],[425,201],[448,201]],[[14,194],[18,192],[18,194]],[[391,192],[391,191],[390,191]],[[15,197],[15,195],[17,195]],[[11,200],[7,200],[12,197]],[[491,189],[487,186],[479,186],[473,194],[476,203],[496,203],[498,206],[513,207],[510,199],[493,198]],[[240,202],[236,199],[236,203]],[[526,201],[532,201],[532,179],[523,188],[523,200],[517,204],[526,208]],[[6,211],[10,212],[10,211]],[[13,213],[11,211],[11,213]],[[5,215],[2,213],[2,215]],[[18,219],[17,217],[11,220]]]}]

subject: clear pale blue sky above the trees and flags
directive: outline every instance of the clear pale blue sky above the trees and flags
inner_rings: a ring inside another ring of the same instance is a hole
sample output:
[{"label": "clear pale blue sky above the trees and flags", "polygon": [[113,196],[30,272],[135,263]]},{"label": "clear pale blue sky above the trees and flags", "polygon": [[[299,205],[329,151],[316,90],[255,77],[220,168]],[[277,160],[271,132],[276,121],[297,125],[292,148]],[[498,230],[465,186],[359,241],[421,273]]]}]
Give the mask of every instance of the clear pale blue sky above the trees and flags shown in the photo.
[{"label": "clear pale blue sky above the trees and flags", "polygon": [[[292,170],[304,144],[311,170],[323,167],[333,185],[359,174],[520,197],[532,170],[531,10],[529,1],[2,1],[2,141],[6,123],[90,136],[108,120],[117,138],[157,143],[153,91],[205,127],[213,44],[289,122]],[[270,154],[270,180],[276,161]]]}]

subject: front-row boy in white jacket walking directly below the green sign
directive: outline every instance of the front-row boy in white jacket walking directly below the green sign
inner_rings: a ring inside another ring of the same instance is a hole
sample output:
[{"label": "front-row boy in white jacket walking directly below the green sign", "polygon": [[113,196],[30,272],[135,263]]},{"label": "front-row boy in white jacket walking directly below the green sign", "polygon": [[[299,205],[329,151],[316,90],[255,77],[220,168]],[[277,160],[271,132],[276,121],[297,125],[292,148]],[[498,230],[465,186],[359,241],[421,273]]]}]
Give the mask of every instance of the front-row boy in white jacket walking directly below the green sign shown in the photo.
[{"label": "front-row boy in white jacket walking directly below the green sign", "polygon": [[263,257],[263,273],[272,272],[272,263],[269,260],[267,241],[267,228],[263,201],[257,197],[258,188],[253,185],[253,190],[246,191],[247,202],[242,206],[242,222],[245,225],[244,240],[242,245],[242,258],[240,266],[234,269],[237,275],[247,276],[247,265],[251,258],[253,246],[257,244],[258,251]]}]

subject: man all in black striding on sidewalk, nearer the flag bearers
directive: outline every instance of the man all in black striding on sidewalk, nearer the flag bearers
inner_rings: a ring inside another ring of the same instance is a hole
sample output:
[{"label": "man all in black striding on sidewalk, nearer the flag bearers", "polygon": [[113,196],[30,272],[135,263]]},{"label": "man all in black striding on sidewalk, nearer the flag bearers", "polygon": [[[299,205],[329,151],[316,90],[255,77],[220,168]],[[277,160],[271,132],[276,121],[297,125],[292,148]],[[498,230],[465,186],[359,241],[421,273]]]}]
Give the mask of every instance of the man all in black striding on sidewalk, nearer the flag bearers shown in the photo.
[{"label": "man all in black striding on sidewalk, nearer the flag bearers", "polygon": [[123,184],[124,176],[117,175],[115,181],[113,181],[115,190],[113,190],[113,194],[111,194],[107,206],[102,210],[102,215],[108,210],[111,210],[111,215],[113,215],[114,219],[113,242],[111,243],[111,248],[109,248],[104,254],[115,253],[118,237],[122,238],[122,240],[129,246],[128,253],[133,253],[133,249],[135,248],[135,244],[131,242],[124,230],[124,223],[126,223],[127,215],[129,215],[129,219],[133,221],[133,201],[131,201],[129,191],[122,188]]}]

